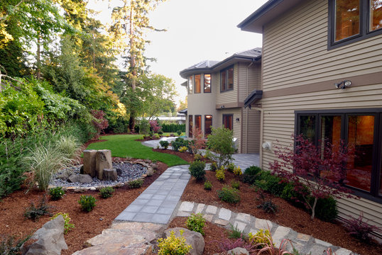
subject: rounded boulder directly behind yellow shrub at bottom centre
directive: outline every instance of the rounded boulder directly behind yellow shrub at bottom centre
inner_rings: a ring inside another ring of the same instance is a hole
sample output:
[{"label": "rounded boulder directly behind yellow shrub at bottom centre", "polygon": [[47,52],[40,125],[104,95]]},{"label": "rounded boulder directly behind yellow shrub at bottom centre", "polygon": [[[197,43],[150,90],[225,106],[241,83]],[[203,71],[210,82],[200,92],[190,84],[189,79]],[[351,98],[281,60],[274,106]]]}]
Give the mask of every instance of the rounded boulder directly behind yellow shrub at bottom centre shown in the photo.
[{"label": "rounded boulder directly behind yellow shrub at bottom centre", "polygon": [[202,234],[185,229],[183,227],[174,227],[165,231],[165,237],[170,237],[170,232],[173,231],[176,237],[180,237],[180,230],[183,230],[182,237],[185,237],[186,243],[192,246],[191,255],[202,255],[204,251],[204,238]]}]

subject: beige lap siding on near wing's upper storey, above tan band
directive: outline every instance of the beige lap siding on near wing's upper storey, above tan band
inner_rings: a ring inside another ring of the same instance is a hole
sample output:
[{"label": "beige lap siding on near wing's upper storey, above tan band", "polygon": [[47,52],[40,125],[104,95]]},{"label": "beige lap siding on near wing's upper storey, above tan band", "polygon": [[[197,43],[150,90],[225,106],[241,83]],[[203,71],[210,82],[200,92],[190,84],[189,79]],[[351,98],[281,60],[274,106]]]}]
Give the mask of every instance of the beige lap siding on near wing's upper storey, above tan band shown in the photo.
[{"label": "beige lap siding on near wing's upper storey, above tan band", "polygon": [[263,90],[382,72],[382,35],[327,50],[327,1],[304,1],[264,27]]}]

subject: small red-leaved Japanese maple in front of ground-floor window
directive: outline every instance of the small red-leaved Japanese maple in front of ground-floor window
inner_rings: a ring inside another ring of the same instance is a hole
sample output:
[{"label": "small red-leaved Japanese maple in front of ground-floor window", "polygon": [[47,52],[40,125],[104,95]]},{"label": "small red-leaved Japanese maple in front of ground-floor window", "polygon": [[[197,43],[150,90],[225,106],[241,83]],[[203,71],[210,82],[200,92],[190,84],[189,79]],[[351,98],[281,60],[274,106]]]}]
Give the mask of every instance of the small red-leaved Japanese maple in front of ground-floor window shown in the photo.
[{"label": "small red-leaved Japanese maple in front of ground-floor window", "polygon": [[[344,187],[346,162],[353,148],[339,142],[332,145],[326,142],[324,148],[313,145],[302,135],[294,137],[295,150],[290,147],[275,146],[275,156],[281,160],[270,163],[275,174],[292,181],[295,190],[301,195],[307,208],[315,218],[315,208],[319,198],[334,196],[351,197],[349,188]],[[314,198],[314,199],[311,199]]]}]

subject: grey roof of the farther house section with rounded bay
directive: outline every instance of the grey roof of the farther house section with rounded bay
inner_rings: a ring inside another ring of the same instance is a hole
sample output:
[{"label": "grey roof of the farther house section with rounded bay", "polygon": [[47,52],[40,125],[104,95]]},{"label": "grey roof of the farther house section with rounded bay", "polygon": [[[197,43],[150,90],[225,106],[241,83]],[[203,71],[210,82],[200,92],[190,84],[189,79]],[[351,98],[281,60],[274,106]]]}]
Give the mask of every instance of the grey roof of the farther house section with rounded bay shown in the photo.
[{"label": "grey roof of the farther house section with rounded bay", "polygon": [[[227,67],[234,62],[238,61],[256,61],[261,60],[261,47],[256,47],[251,50],[244,50],[242,52],[236,52],[234,55],[227,57],[222,61],[212,61],[212,60],[203,60],[197,64],[193,64],[191,67],[183,69],[180,71],[180,76],[187,79],[187,76],[190,74],[195,74],[195,72],[213,72],[224,67]],[[182,84],[183,85],[183,84]]]}]

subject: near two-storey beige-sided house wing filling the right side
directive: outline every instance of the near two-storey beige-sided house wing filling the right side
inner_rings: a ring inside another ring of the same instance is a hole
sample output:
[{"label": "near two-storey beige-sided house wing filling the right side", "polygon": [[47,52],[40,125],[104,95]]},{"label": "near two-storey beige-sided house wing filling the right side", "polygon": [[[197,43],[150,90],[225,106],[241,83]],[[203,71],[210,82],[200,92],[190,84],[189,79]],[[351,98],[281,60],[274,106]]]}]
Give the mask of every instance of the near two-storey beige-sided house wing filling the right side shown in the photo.
[{"label": "near two-storey beige-sided house wing filling the right side", "polygon": [[262,97],[246,101],[261,109],[261,167],[293,133],[316,144],[344,140],[357,156],[346,185],[360,199],[338,200],[339,216],[364,212],[381,227],[381,1],[270,0],[238,27],[263,35]]}]

